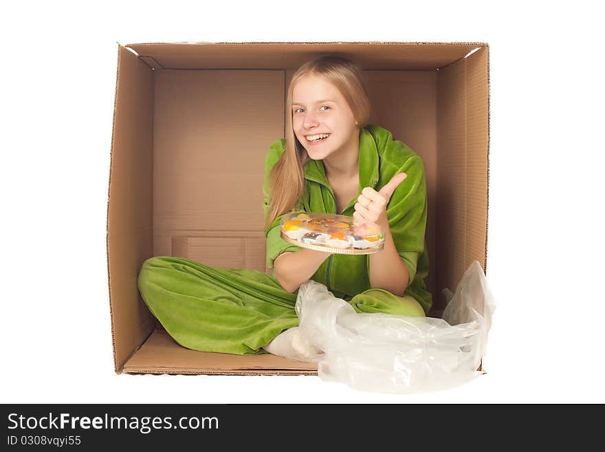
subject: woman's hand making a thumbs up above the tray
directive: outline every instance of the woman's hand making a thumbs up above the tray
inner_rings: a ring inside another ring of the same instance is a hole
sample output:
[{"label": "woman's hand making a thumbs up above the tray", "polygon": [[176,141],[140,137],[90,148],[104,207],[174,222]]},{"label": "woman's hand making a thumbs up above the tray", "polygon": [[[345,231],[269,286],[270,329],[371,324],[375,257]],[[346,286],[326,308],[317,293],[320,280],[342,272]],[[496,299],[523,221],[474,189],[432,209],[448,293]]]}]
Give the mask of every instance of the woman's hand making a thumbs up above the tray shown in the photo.
[{"label": "woman's hand making a thumbs up above the tray", "polygon": [[356,224],[375,223],[383,228],[388,227],[386,219],[386,205],[391,200],[391,196],[397,189],[397,186],[406,180],[406,173],[399,173],[393,176],[380,191],[366,186],[355,203],[355,213],[353,219]]}]

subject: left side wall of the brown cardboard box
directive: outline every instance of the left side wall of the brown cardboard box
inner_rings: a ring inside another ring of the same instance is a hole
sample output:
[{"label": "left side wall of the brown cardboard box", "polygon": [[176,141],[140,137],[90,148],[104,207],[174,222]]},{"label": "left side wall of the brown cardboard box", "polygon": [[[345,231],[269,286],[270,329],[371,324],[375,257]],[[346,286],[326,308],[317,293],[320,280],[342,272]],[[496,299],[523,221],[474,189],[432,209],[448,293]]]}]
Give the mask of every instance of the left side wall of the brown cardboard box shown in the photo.
[{"label": "left side wall of the brown cardboard box", "polygon": [[153,72],[118,47],[107,267],[115,372],[154,327],[137,290],[142,261],[153,252]]}]

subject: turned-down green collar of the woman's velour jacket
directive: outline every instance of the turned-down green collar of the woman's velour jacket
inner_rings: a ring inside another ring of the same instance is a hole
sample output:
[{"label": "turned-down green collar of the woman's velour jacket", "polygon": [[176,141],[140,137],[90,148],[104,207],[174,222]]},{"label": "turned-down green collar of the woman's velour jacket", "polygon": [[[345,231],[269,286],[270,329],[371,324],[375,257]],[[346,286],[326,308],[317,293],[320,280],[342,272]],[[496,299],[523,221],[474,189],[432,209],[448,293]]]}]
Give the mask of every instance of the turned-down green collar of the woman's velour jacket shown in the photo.
[{"label": "turned-down green collar of the woman's velour jacket", "polygon": [[[322,160],[309,160],[305,166],[305,179],[330,188]],[[372,134],[360,129],[359,193],[366,187],[375,188],[378,182],[378,149]]]}]

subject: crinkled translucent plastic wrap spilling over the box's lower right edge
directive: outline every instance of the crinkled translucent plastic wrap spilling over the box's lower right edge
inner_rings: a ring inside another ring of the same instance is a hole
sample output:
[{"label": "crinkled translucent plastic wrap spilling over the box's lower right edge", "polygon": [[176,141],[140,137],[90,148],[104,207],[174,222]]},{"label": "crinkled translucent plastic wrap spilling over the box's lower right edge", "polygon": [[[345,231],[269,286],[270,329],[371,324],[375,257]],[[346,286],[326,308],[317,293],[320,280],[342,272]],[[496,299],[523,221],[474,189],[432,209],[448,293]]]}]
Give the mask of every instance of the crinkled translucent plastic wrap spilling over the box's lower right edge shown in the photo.
[{"label": "crinkled translucent plastic wrap spilling over the box's lower right edge", "polygon": [[444,292],[443,319],[358,314],[326,286],[307,281],[296,300],[300,334],[320,352],[304,360],[318,363],[322,380],[362,391],[411,393],[465,383],[481,374],[476,369],[495,303],[477,261],[455,294]]}]

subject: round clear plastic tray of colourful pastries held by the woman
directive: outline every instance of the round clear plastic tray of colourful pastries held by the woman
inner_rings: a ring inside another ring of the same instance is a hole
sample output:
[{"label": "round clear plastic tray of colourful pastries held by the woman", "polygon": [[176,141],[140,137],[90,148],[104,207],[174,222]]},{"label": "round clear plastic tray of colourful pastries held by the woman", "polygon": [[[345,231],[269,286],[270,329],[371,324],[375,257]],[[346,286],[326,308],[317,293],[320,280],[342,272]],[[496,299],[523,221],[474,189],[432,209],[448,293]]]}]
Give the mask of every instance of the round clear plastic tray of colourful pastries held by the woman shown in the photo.
[{"label": "round clear plastic tray of colourful pastries held by the woman", "polygon": [[355,224],[353,217],[330,213],[284,215],[281,237],[301,248],[342,255],[369,255],[384,248],[384,231],[377,224]]}]

